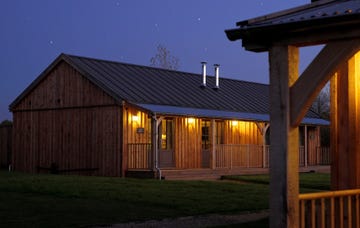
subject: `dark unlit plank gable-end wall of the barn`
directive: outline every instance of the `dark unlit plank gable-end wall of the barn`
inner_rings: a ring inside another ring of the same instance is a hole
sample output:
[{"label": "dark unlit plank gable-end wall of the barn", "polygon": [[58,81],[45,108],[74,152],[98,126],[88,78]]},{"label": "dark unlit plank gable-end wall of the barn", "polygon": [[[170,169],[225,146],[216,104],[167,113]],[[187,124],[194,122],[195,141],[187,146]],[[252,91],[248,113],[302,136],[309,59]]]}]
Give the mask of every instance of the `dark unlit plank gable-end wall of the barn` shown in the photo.
[{"label": "dark unlit plank gable-end wall of the barn", "polygon": [[67,63],[12,111],[15,170],[48,171],[38,168],[55,163],[72,174],[121,175],[121,106]]}]

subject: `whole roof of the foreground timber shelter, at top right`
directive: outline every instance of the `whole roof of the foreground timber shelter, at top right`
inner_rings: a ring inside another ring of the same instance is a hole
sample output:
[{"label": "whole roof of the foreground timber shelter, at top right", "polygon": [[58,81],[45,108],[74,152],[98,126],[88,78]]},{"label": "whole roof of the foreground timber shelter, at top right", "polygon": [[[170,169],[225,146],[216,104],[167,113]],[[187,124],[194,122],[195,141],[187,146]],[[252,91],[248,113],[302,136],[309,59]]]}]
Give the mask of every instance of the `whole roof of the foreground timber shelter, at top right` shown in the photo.
[{"label": "whole roof of the foreground timber shelter, at top right", "polygon": [[359,0],[320,0],[311,4],[236,23],[226,30],[232,40],[242,39],[250,51],[267,51],[282,42],[306,46],[339,39],[359,38]]}]

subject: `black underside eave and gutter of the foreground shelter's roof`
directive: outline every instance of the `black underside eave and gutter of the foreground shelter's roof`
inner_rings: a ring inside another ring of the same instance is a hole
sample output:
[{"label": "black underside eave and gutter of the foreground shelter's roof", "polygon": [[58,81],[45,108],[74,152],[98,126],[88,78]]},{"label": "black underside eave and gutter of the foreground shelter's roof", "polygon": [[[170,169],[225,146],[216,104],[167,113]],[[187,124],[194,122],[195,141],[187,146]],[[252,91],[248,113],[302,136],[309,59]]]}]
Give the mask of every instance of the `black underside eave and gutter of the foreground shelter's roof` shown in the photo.
[{"label": "black underside eave and gutter of the foreground shelter's roof", "polygon": [[360,15],[346,15],[311,21],[289,22],[272,25],[244,26],[226,30],[230,41],[242,40],[246,50],[268,51],[274,43],[308,46],[335,40],[360,38]]}]

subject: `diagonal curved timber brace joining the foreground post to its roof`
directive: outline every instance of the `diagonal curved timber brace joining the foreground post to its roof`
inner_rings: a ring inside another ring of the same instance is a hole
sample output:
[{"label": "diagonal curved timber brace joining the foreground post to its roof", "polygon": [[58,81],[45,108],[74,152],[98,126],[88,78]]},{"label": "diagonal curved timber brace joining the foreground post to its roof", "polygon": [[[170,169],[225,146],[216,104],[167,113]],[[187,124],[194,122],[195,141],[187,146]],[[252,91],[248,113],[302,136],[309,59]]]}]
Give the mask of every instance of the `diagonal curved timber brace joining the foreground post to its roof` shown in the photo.
[{"label": "diagonal curved timber brace joining the foreground post to its roof", "polygon": [[327,44],[290,89],[291,125],[299,125],[313,100],[341,62],[360,50],[360,39]]}]

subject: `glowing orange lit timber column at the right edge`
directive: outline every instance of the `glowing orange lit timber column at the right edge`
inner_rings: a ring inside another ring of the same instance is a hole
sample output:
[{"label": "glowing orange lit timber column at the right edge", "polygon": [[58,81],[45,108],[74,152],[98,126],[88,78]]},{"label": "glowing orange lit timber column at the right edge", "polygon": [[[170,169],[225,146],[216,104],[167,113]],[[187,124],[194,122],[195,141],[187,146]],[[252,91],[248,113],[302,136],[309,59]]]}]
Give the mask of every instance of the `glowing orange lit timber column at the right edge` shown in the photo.
[{"label": "glowing orange lit timber column at the right edge", "polygon": [[331,187],[360,188],[360,52],[331,79]]}]

